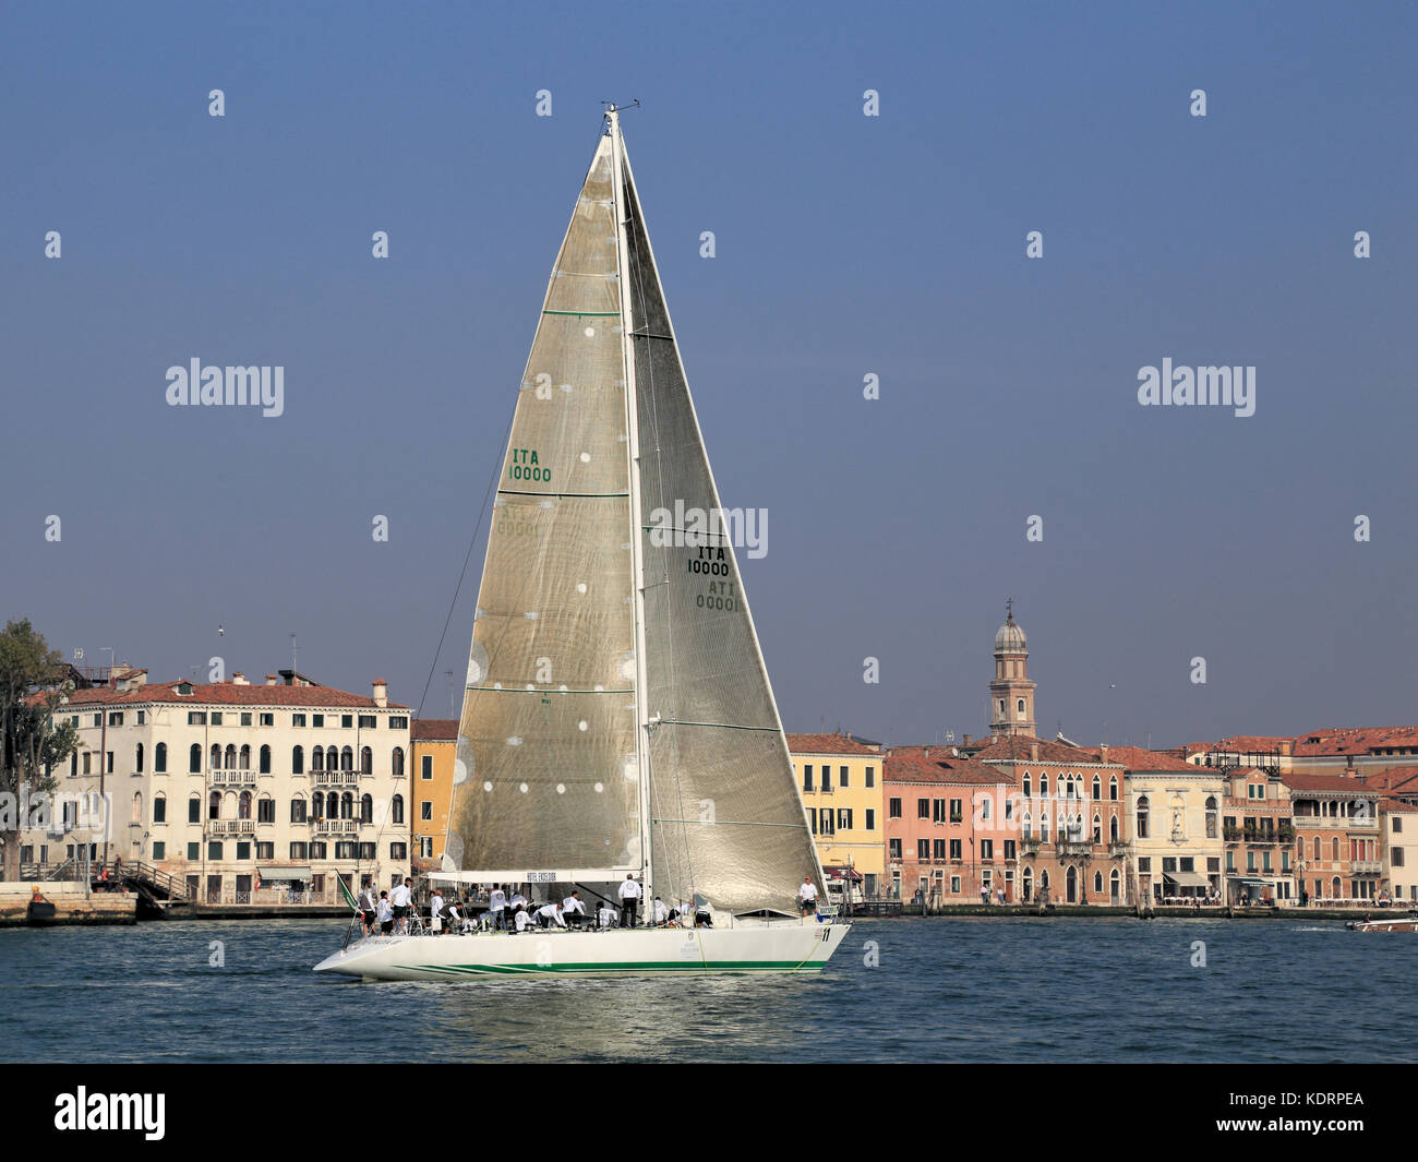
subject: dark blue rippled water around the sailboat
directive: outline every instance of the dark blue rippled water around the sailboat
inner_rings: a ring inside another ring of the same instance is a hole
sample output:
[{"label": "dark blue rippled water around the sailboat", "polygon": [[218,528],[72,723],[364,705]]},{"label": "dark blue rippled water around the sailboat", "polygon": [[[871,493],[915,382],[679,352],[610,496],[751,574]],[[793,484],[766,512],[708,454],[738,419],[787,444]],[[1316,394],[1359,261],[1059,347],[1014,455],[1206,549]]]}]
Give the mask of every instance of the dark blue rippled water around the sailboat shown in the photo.
[{"label": "dark blue rippled water around the sailboat", "polygon": [[1333,921],[859,921],[820,976],[428,985],[312,973],[343,934],[3,931],[0,1060],[1418,1060],[1418,935]]}]

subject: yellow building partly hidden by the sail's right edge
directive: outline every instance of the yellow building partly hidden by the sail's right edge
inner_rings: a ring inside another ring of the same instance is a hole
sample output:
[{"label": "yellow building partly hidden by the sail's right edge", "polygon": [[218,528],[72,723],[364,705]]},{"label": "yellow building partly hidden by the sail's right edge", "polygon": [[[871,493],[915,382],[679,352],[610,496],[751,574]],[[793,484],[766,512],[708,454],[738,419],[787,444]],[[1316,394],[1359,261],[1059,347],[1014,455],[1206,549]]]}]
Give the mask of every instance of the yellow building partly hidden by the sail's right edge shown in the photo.
[{"label": "yellow building partly hidden by the sail's right edge", "polygon": [[854,898],[879,895],[886,873],[881,745],[844,734],[788,735],[788,752],[828,887],[845,875]]}]

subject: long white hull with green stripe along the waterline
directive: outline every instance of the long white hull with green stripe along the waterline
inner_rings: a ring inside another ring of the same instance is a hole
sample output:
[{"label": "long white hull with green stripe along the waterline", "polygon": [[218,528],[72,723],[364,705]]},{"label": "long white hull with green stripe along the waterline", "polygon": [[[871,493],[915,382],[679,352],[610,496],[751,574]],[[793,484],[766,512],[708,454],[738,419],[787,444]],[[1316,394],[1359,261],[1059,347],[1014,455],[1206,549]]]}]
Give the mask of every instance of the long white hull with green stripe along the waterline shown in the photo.
[{"label": "long white hull with green stripe along the waterline", "polygon": [[849,928],[815,921],[740,921],[733,928],[372,936],[328,956],[315,970],[366,980],[820,972]]}]

